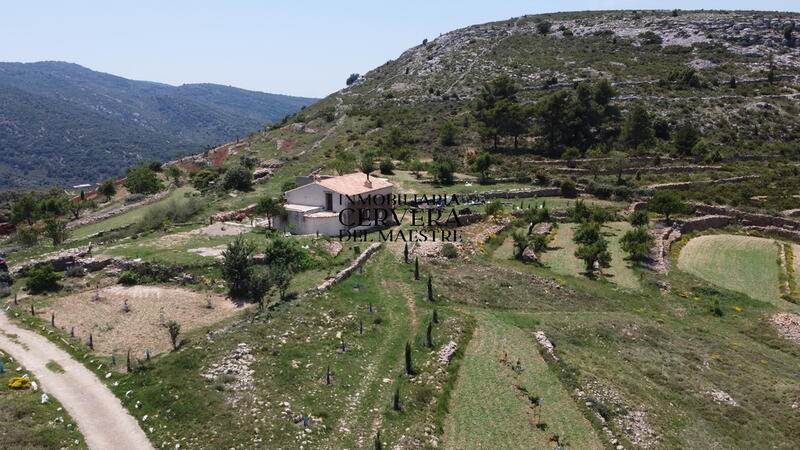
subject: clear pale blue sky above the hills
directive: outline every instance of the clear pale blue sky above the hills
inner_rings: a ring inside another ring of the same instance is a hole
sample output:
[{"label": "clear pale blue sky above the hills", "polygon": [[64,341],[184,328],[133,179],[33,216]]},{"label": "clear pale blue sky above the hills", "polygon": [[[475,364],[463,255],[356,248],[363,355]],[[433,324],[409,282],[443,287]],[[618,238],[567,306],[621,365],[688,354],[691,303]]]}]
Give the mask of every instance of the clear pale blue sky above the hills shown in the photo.
[{"label": "clear pale blue sky above the hills", "polygon": [[136,80],[324,97],[423,39],[524,14],[800,11],[796,0],[0,0],[0,61],[67,61]]}]

